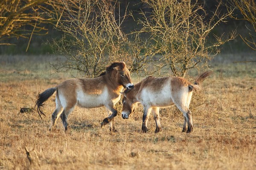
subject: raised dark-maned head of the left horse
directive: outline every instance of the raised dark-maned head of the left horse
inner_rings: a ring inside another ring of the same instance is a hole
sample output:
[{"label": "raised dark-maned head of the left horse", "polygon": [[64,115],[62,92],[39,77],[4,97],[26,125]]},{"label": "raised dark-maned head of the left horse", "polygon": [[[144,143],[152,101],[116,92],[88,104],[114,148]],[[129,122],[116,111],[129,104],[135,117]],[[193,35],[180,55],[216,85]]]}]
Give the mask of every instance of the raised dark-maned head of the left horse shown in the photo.
[{"label": "raised dark-maned head of the left horse", "polygon": [[134,88],[130,77],[130,71],[126,68],[125,62],[113,62],[107,67],[107,71],[111,72],[111,77],[119,85],[122,85],[127,89]]}]

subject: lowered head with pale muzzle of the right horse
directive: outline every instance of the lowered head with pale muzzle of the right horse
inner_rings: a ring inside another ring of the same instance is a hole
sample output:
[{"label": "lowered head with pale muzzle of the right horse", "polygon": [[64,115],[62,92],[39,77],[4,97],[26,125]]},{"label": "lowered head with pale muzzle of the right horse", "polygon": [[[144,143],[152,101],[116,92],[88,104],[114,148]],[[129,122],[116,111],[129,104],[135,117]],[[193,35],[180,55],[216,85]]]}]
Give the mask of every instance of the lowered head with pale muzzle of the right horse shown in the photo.
[{"label": "lowered head with pale muzzle of the right horse", "polygon": [[134,113],[135,103],[133,93],[128,93],[130,90],[126,89],[124,92],[120,92],[123,95],[122,99],[122,118],[128,119],[129,116]]}]

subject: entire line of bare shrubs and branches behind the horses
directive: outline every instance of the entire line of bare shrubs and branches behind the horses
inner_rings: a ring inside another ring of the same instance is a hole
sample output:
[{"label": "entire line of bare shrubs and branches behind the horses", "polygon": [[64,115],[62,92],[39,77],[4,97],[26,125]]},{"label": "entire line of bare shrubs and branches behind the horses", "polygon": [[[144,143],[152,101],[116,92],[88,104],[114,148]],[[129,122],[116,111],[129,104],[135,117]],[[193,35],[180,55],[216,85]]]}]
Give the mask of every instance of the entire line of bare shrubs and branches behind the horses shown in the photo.
[{"label": "entire line of bare shrubs and branches behind the horses", "polygon": [[239,37],[255,50],[255,11],[253,0],[3,0],[0,50],[23,44],[29,51],[41,38],[49,42],[46,51],[66,58],[53,65],[56,71],[95,77],[122,60],[142,75],[165,68],[184,77],[236,38],[236,28],[223,29],[232,19],[244,20],[239,27],[247,37]]}]

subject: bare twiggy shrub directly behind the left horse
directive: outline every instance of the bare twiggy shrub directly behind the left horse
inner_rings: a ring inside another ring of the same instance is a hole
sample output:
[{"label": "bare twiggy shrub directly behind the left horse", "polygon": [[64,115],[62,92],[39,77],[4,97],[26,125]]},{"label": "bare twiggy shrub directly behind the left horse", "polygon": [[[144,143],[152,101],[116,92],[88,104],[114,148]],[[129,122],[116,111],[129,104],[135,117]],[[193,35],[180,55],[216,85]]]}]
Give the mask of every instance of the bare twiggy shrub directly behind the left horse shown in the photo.
[{"label": "bare twiggy shrub directly behind the left horse", "polygon": [[[57,71],[75,69],[82,76],[95,77],[115,60],[128,60],[127,36],[121,26],[127,15],[117,16],[117,3],[94,0],[63,2],[64,11],[57,29],[64,32],[52,47],[66,61],[53,65]],[[118,18],[118,19],[116,19]],[[57,18],[55,18],[57,20]]]}]

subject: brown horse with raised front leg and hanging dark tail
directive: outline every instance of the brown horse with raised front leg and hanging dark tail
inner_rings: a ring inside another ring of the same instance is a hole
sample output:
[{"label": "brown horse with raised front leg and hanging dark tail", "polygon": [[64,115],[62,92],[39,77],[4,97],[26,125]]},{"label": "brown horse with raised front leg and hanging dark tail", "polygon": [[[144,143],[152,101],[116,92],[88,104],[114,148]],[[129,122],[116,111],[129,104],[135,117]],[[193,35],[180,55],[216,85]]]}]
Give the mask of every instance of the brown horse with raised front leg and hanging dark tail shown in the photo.
[{"label": "brown horse with raised front leg and hanging dark tail", "polygon": [[123,88],[131,89],[133,87],[130,72],[126,68],[125,62],[113,62],[99,77],[91,79],[69,79],[54,88],[49,88],[43,93],[38,94],[35,106],[37,106],[39,116],[45,116],[41,107],[57,91],[55,98],[56,109],[52,113],[52,123],[49,130],[55,127],[59,116],[61,116],[64,128],[67,130],[67,116],[73,111],[76,105],[84,108],[105,106],[109,110],[109,114],[103,120],[101,126],[110,122],[110,130],[114,131],[115,127],[113,123],[117,111],[113,107],[121,97],[119,91],[122,91]]}]

